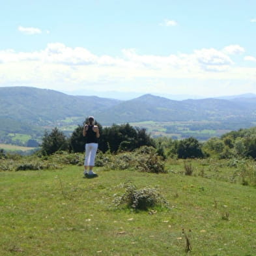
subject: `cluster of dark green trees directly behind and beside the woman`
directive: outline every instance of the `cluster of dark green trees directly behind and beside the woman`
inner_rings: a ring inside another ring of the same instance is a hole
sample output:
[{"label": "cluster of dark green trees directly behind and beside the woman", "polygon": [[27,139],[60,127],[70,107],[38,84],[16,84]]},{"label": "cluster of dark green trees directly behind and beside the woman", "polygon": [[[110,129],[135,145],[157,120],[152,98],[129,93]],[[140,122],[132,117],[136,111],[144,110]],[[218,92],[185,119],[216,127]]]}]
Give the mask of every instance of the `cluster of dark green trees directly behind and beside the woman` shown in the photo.
[{"label": "cluster of dark green trees directly behind and beside the woman", "polygon": [[[87,123],[87,120],[84,122]],[[84,125],[84,124],[83,124]],[[70,137],[66,137],[61,130],[54,128],[51,132],[45,132],[42,137],[40,151],[43,154],[53,154],[58,150],[68,150],[70,152],[84,152],[85,137],[83,137],[83,125],[72,132]],[[147,134],[144,128],[134,128],[130,124],[113,124],[102,128],[102,125],[95,121],[100,130],[98,139],[98,149],[102,152],[132,151],[141,146],[153,146],[154,139]]]}]

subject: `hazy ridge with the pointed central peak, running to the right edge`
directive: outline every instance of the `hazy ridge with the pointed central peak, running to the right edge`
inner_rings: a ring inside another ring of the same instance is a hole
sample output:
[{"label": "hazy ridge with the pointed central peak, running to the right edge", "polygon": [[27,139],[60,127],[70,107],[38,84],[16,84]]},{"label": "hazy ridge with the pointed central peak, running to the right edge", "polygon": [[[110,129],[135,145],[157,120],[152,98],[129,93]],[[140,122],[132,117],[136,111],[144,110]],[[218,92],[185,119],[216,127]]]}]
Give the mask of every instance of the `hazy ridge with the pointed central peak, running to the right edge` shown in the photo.
[{"label": "hazy ridge with the pointed central peak, running to the right edge", "polygon": [[107,111],[98,111],[96,115],[99,120],[111,124],[141,121],[222,121],[234,118],[254,120],[255,113],[256,98],[244,102],[216,98],[176,101],[145,94],[139,98],[121,102]]}]

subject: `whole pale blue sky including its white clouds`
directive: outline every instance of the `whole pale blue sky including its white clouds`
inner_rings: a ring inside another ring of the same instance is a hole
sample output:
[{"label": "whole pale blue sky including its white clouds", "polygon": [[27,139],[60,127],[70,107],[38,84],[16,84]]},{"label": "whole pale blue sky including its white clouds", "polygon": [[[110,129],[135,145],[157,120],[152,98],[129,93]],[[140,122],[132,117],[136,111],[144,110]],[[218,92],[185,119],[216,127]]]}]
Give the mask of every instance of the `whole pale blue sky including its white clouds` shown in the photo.
[{"label": "whole pale blue sky including its white clouds", "polygon": [[255,1],[4,1],[0,86],[256,93]]}]

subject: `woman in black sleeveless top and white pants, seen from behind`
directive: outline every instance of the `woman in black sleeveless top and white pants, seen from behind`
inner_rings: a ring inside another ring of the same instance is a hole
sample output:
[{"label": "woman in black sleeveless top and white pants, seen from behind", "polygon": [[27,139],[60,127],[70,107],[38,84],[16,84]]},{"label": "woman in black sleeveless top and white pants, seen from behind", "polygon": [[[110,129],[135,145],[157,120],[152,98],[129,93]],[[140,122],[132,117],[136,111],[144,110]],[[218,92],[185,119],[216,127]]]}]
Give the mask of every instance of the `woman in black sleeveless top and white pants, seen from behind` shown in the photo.
[{"label": "woman in black sleeveless top and white pants, seen from behind", "polygon": [[[85,177],[97,177],[98,175],[92,171],[94,167],[94,160],[98,149],[98,137],[100,132],[98,126],[94,125],[94,117],[88,118],[89,124],[83,126],[83,136],[86,139],[85,143]],[[89,172],[88,172],[89,169]]]}]

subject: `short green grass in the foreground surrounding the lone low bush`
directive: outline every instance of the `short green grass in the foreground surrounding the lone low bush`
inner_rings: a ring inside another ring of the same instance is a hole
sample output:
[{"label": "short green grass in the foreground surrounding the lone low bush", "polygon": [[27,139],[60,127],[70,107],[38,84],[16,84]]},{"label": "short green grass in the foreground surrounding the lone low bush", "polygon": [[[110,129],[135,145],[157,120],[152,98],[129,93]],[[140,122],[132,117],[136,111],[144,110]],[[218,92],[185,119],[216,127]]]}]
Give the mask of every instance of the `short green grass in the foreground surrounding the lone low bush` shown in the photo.
[{"label": "short green grass in the foreground surrounding the lone low bush", "polygon": [[[195,162],[193,162],[195,164]],[[104,171],[82,178],[83,167],[0,173],[0,255],[255,255],[256,193],[251,186],[180,175]],[[131,180],[158,186],[170,210],[117,209],[114,194]],[[150,213],[150,214],[149,214]],[[227,220],[224,220],[227,217]]]}]

